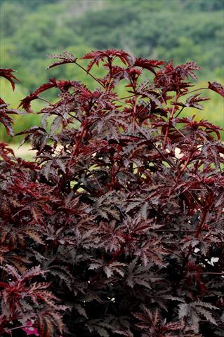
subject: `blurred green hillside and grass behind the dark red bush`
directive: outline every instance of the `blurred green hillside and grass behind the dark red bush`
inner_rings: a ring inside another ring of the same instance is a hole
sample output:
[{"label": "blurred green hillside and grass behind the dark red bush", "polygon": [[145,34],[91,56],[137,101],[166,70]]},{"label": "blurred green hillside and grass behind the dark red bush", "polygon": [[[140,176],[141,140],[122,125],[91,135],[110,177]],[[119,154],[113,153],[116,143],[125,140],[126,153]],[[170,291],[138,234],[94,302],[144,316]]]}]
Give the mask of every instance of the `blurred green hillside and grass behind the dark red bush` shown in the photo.
[{"label": "blurred green hillside and grass behind the dark red bush", "polygon": [[[17,70],[20,79],[14,93],[4,79],[0,81],[1,97],[13,107],[52,77],[81,80],[93,88],[91,77],[74,65],[45,70],[51,63],[46,54],[65,50],[79,57],[93,49],[123,48],[176,65],[194,60],[202,67],[197,86],[223,82],[223,0],[0,0],[0,16],[0,67]],[[100,76],[100,70],[94,71]],[[197,118],[223,126],[222,98],[203,93],[211,101],[204,103]],[[48,98],[55,100],[55,92]],[[33,106],[38,111],[43,103]],[[17,117],[15,132],[38,121],[37,115]],[[18,142],[3,128],[0,133],[0,140]]]}]

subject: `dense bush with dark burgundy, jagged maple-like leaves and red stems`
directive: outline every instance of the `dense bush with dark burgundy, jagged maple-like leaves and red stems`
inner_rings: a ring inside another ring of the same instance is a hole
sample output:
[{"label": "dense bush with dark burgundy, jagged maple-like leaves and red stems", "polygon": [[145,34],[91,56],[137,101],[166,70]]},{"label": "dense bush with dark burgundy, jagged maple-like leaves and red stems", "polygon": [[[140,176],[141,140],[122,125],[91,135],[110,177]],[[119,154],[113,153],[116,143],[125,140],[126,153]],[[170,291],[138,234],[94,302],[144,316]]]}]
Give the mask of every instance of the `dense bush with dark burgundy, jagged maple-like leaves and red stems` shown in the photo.
[{"label": "dense bush with dark burgundy, jagged maple-like leaves and red stems", "polygon": [[[188,82],[199,66],[116,50],[84,59],[98,88],[50,79],[20,104],[31,113],[60,93],[22,132],[35,160],[0,144],[0,335],[224,336],[224,146],[220,127],[181,117],[206,100]],[[21,110],[0,108],[12,133],[8,113]]]}]

